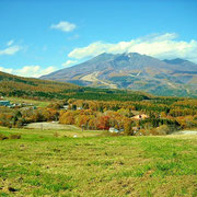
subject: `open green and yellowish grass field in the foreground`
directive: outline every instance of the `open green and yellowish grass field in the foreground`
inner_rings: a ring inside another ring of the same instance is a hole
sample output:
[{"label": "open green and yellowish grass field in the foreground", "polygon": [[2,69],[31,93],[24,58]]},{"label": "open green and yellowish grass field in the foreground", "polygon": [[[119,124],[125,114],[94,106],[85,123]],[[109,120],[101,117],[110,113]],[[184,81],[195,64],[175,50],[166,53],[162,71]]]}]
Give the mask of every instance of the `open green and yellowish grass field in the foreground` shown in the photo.
[{"label": "open green and yellowish grass field in the foreground", "polygon": [[0,128],[0,196],[197,196],[196,136],[68,132]]}]

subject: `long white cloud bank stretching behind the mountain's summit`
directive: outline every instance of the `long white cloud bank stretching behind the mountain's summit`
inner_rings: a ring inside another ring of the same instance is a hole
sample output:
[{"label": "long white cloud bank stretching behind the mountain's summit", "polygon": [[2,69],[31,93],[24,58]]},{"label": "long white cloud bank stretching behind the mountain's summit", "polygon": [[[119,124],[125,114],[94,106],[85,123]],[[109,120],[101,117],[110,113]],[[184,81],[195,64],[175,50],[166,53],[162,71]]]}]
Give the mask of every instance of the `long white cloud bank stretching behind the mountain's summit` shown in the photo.
[{"label": "long white cloud bank stretching behind the mountain's summit", "polygon": [[175,39],[176,37],[175,33],[166,33],[115,44],[95,42],[89,46],[73,49],[68,56],[70,58],[83,59],[97,56],[102,53],[139,53],[161,59],[178,57],[197,62],[197,40],[177,40]]}]

